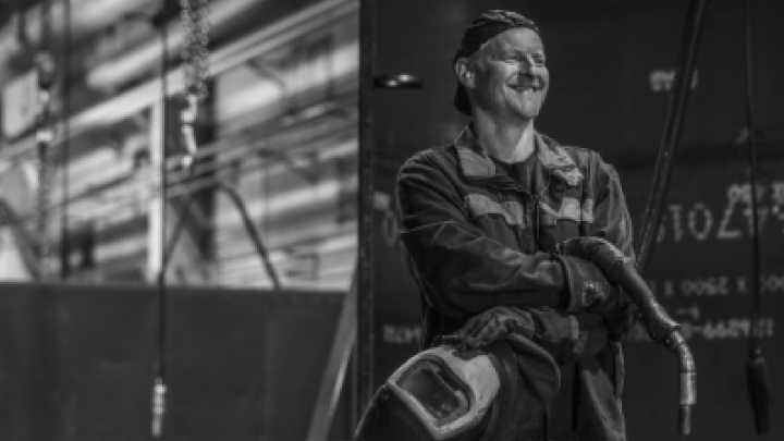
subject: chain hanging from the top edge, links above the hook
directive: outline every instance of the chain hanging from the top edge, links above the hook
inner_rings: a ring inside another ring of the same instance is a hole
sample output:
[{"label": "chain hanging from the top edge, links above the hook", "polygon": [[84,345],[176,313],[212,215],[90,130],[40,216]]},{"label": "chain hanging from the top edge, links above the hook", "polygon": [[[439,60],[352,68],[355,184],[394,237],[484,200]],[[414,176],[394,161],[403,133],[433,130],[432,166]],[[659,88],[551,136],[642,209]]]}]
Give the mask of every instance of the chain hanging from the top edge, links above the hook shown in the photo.
[{"label": "chain hanging from the top edge, links above the hook", "polygon": [[209,0],[180,0],[183,27],[183,74],[185,95],[201,101],[209,95]]}]

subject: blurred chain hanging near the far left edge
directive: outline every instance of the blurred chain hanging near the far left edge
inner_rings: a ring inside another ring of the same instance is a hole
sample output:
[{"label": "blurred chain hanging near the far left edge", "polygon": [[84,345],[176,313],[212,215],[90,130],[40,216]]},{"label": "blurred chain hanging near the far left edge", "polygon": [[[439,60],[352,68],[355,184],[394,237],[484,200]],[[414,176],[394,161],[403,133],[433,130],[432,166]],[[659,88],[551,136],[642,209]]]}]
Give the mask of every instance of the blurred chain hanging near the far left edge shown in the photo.
[{"label": "blurred chain hanging near the far left edge", "polygon": [[36,233],[38,236],[38,270],[41,279],[50,275],[51,234],[49,231],[50,199],[52,186],[52,85],[54,83],[54,58],[52,49],[52,1],[45,0],[40,9],[40,41],[35,59],[38,79],[38,115],[36,142],[38,144],[38,200]]}]

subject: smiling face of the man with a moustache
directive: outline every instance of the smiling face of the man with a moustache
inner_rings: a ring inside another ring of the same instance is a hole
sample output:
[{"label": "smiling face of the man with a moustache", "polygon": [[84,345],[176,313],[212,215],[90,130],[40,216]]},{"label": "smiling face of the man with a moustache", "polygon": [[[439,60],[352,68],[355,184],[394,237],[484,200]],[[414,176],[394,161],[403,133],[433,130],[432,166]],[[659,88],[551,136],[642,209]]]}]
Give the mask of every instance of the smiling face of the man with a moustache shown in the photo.
[{"label": "smiling face of the man with a moustache", "polygon": [[531,29],[497,35],[476,53],[474,97],[499,118],[529,121],[539,114],[550,85],[544,46]]}]

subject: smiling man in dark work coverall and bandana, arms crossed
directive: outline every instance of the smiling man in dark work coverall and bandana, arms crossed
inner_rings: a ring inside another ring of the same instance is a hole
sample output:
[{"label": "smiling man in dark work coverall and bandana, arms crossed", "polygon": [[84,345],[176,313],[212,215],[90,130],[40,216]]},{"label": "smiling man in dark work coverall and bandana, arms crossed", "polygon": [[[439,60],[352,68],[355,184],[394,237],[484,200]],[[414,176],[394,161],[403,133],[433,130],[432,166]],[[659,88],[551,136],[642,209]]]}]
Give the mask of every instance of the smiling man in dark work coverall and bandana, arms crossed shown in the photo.
[{"label": "smiling man in dark work coverall and bandana, arms crossed", "polygon": [[625,440],[618,340],[633,308],[593,264],[556,248],[596,236],[634,257],[617,174],[535,130],[550,75],[532,21],[486,12],[453,69],[454,105],[471,121],[397,181],[424,346],[478,347],[518,330],[520,387],[499,439]]}]

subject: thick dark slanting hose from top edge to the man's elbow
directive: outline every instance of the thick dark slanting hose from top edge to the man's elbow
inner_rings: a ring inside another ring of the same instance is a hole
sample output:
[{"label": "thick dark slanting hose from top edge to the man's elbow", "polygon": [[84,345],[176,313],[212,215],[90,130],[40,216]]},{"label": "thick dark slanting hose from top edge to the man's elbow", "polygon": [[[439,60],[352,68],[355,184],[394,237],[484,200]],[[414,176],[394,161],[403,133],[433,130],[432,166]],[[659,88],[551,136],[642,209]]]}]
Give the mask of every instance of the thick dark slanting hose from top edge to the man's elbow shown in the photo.
[{"label": "thick dark slanting hose from top edge to the man's elbow", "polygon": [[648,204],[646,205],[642,225],[637,241],[637,262],[640,273],[645,273],[646,267],[653,253],[656,236],[659,233],[659,225],[661,224],[662,208],[670,188],[672,157],[675,147],[681,140],[681,131],[686,118],[686,108],[694,78],[697,48],[702,33],[702,21],[705,19],[707,2],[708,0],[689,0],[686,12],[686,23],[681,38],[678,66],[675,73],[670,111],[664,124],[664,135],[653,172],[651,193],[648,198]]}]

